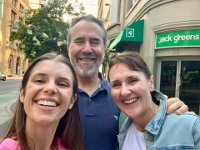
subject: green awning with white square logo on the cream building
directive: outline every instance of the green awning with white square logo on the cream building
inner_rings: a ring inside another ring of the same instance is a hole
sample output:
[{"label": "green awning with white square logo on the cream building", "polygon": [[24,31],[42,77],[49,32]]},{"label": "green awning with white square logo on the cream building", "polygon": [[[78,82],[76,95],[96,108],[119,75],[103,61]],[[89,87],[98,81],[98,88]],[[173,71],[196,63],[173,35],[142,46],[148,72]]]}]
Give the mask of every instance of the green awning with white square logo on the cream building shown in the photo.
[{"label": "green awning with white square logo on the cream building", "polygon": [[143,32],[144,20],[133,22],[110,44],[109,50],[114,49],[121,42],[143,42]]}]

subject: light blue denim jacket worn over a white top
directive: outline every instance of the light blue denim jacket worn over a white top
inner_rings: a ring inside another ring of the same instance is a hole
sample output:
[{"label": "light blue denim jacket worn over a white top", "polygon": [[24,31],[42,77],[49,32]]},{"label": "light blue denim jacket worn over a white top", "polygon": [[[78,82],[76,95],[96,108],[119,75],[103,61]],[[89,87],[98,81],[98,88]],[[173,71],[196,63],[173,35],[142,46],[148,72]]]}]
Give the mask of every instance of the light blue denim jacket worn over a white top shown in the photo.
[{"label": "light blue denim jacket worn over a white top", "polygon": [[[159,103],[159,110],[145,128],[147,150],[200,150],[200,117],[189,113],[167,115],[164,95],[154,91],[152,97]],[[121,113],[117,135],[119,150],[131,123],[131,119]]]}]

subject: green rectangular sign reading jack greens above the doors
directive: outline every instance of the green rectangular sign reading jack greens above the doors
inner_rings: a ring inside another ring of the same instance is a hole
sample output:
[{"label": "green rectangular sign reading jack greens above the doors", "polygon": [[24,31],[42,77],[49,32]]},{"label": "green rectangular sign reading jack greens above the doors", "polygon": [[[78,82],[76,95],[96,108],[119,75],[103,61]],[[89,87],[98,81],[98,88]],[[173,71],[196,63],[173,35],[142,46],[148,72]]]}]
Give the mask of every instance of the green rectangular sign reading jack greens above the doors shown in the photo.
[{"label": "green rectangular sign reading jack greens above the doors", "polygon": [[156,35],[156,49],[171,47],[200,47],[200,30],[182,30]]}]

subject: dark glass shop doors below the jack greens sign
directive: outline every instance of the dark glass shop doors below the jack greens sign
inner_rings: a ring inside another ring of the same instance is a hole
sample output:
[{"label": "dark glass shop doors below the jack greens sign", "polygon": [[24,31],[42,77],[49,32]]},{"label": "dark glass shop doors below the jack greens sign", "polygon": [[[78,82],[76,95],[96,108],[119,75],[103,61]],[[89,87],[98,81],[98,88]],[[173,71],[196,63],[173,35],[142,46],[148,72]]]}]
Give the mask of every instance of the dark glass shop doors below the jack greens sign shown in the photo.
[{"label": "dark glass shop doors below the jack greens sign", "polygon": [[169,97],[179,97],[189,106],[190,111],[197,114],[200,114],[199,60],[161,60],[158,86]]}]

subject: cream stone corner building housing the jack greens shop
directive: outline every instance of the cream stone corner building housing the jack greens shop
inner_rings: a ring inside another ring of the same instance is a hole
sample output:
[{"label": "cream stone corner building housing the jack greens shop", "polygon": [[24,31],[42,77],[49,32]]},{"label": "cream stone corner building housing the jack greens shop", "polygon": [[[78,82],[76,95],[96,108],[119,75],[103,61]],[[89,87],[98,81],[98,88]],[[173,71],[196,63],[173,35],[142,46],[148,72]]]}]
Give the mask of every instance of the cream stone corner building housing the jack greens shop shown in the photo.
[{"label": "cream stone corner building housing the jack greens shop", "polygon": [[137,51],[154,75],[156,89],[179,97],[199,114],[200,1],[99,0],[98,8],[109,50]]}]

